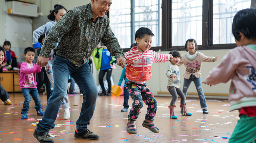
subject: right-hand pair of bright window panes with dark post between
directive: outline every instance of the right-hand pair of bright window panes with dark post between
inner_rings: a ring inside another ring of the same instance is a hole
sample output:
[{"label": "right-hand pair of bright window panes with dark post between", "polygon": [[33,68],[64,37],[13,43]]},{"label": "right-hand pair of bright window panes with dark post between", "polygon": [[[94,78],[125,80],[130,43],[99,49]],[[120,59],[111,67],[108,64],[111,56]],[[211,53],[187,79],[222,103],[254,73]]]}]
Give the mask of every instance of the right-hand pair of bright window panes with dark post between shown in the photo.
[{"label": "right-hand pair of bright window panes with dark post between", "polygon": [[251,0],[172,0],[170,47],[184,50],[186,40],[193,38],[201,49],[233,48],[233,18],[250,5]]}]

